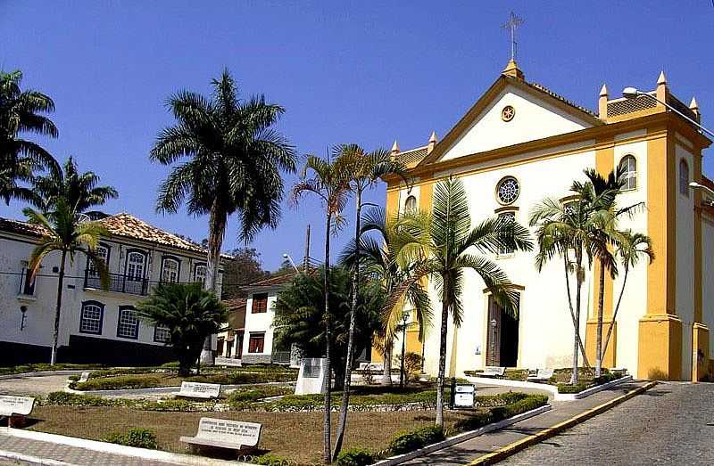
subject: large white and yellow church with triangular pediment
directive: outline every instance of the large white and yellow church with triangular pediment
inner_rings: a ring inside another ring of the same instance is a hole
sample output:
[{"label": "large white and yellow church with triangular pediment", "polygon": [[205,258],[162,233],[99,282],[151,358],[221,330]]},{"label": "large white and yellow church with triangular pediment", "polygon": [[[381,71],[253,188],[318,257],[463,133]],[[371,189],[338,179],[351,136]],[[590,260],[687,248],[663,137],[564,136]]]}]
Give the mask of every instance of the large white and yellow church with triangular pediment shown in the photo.
[{"label": "large white and yellow church with triangular pediment", "polygon": [[[656,258],[651,264],[640,260],[629,271],[603,366],[626,368],[643,379],[702,380],[714,372],[714,208],[706,193],[714,183],[702,174],[702,150],[711,140],[690,121],[701,121],[694,99],[689,105],[679,100],[663,72],[652,85],[626,97],[602,86],[595,112],[527,81],[511,59],[441,140],[432,134],[426,145],[403,151],[394,143],[394,158],[407,165],[413,182],[386,178],[386,212],[430,211],[435,184],[453,175],[468,192],[472,225],[494,216],[528,225],[540,201],[567,201],[570,184],[585,179],[585,168],[603,175],[625,168],[619,204],[646,207],[620,227],[648,235]],[[703,187],[693,189],[692,182]],[[464,319],[460,327],[451,321],[448,327],[447,375],[486,365],[571,366],[574,330],[562,263],[552,261],[538,272],[535,254],[502,251],[491,257],[518,287],[518,318],[494,306],[477,274],[465,273]],[[580,318],[591,364],[598,277],[597,266],[585,276]],[[606,276],[605,330],[621,281],[622,274],[614,280]],[[433,283],[428,290],[432,306],[439,308]],[[430,375],[438,370],[440,314],[434,313],[423,342],[416,329],[406,334],[407,350],[423,356]],[[372,356],[380,360],[377,352]]]}]

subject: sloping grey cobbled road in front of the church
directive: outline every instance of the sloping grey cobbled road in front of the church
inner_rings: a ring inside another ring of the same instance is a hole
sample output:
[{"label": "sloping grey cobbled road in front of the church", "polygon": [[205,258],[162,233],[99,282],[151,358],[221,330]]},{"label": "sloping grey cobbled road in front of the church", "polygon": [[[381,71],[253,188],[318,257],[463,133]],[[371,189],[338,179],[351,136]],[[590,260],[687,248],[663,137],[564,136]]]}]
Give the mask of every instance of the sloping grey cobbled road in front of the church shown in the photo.
[{"label": "sloping grey cobbled road in front of the church", "polygon": [[714,464],[712,436],[714,384],[664,382],[498,464]]}]

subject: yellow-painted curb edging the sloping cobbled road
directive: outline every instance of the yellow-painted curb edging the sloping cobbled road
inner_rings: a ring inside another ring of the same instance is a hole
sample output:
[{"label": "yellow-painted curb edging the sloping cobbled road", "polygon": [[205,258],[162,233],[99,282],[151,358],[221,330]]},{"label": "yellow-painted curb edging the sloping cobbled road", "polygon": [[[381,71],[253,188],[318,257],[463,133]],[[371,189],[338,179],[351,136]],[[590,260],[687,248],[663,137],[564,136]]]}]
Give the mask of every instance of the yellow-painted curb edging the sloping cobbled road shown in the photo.
[{"label": "yellow-painted curb edging the sloping cobbled road", "polygon": [[493,453],[484,454],[483,456],[479,456],[475,460],[465,464],[467,464],[468,466],[480,466],[500,462],[501,460],[508,458],[512,454],[519,453],[519,451],[526,449],[528,446],[538,444],[547,438],[558,435],[563,430],[570,429],[571,427],[575,426],[576,424],[579,424],[580,422],[587,421],[588,419],[600,413],[604,413],[610,408],[619,405],[620,403],[623,403],[632,397],[636,397],[637,395],[644,393],[655,385],[657,385],[656,381],[646,383],[642,387],[634,388],[628,391],[625,395],[613,398],[610,401],[602,403],[602,405],[597,405],[594,408],[585,411],[584,413],[577,414],[577,416],[574,416],[566,421],[561,421],[548,429],[543,429],[530,437],[526,437],[519,440],[518,442],[513,442],[510,445],[503,446],[502,448],[499,448]]}]

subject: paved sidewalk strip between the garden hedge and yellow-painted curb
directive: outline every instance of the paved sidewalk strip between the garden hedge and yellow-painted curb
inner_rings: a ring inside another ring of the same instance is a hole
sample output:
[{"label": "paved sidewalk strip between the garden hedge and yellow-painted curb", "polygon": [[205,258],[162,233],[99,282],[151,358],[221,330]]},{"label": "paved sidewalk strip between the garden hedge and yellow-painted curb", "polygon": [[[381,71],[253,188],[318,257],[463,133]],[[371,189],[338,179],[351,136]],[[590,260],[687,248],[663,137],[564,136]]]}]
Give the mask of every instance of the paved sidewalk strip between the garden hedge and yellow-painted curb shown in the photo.
[{"label": "paved sidewalk strip between the garden hedge and yellow-painted curb", "polygon": [[[523,438],[529,437],[536,432],[548,429],[553,425],[566,421],[579,413],[594,408],[597,405],[602,405],[611,399],[620,397],[628,391],[644,385],[644,382],[634,381],[623,383],[616,387],[604,389],[590,397],[586,397],[576,401],[556,401],[552,403],[552,410],[543,414],[539,414],[525,421],[517,422],[505,429],[496,430],[494,432],[472,438],[461,444],[450,446],[439,450],[432,454],[415,458],[404,464],[429,464],[429,465],[455,465],[469,464],[472,460],[483,454],[489,454],[498,450],[502,446],[507,446],[513,442],[517,442]],[[514,388],[517,390],[517,388]],[[646,393],[646,392],[645,392]],[[627,405],[628,402],[625,402]],[[547,441],[547,440],[546,440]],[[532,464],[552,464],[553,462],[533,462]],[[557,461],[560,464],[560,461]],[[530,462],[527,464],[531,464]],[[583,464],[582,462],[573,462],[572,464]]]}]

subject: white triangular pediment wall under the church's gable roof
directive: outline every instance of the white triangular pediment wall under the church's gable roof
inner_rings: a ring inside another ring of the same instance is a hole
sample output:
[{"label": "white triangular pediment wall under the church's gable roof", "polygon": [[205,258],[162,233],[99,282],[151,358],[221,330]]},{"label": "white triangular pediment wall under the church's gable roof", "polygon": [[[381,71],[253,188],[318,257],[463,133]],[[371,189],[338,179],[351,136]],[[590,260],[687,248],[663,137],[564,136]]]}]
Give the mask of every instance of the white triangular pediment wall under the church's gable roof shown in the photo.
[{"label": "white triangular pediment wall under the church's gable roof", "polygon": [[[516,110],[515,117],[509,122],[501,119],[501,110],[506,105],[512,105]],[[444,153],[442,159],[455,159],[552,135],[562,135],[590,126],[592,125],[556,108],[550,102],[537,99],[516,87],[507,86]]]}]

